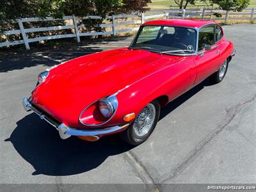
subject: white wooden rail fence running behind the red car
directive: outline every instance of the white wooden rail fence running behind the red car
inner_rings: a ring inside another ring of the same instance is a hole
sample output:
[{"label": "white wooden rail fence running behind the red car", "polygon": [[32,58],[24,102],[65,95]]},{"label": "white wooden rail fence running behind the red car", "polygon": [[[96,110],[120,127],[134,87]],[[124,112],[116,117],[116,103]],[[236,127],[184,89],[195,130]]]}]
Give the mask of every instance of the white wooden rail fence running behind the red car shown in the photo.
[{"label": "white wooden rail fence running behind the red car", "polygon": [[[156,12],[158,12],[156,14]],[[154,13],[150,15],[150,13]],[[213,13],[221,13],[224,17],[215,17]],[[240,17],[239,17],[240,16]],[[242,17],[241,17],[242,16]],[[248,16],[248,17],[246,17]],[[104,32],[81,32],[81,28],[84,28],[84,24],[79,24],[79,19],[102,19],[100,16],[89,15],[83,18],[77,18],[74,16],[65,16],[62,19],[56,19],[53,17],[46,17],[44,19],[40,17],[32,17],[32,18],[22,18],[17,19],[16,21],[19,24],[19,29],[3,31],[3,35],[16,35],[19,34],[22,37],[22,40],[14,40],[12,42],[1,42],[0,47],[10,46],[10,45],[18,45],[25,44],[26,49],[30,49],[29,43],[31,42],[39,42],[42,40],[52,40],[58,38],[76,38],[77,42],[80,42],[80,36],[95,36],[95,35],[117,35],[118,33],[125,33],[138,30],[138,24],[143,24],[147,20],[152,20],[156,18],[200,18],[205,20],[224,20],[228,22],[228,20],[250,20],[253,21],[255,19],[255,8],[246,8],[243,12],[225,12],[223,10],[214,10],[214,9],[170,9],[170,10],[154,10],[147,13],[142,13],[140,16],[136,14],[129,15],[112,15],[107,16],[106,19],[109,20],[108,23],[99,24],[100,28],[111,28],[110,31]],[[118,19],[127,19],[132,18],[133,20],[125,20],[118,21]],[[52,21],[52,20],[70,20],[72,24],[64,25],[64,26],[50,26],[43,28],[24,28],[25,22],[41,22],[41,21]],[[122,29],[119,29],[120,26],[127,26]],[[132,26],[131,25],[137,25]],[[50,35],[50,36],[39,36],[35,38],[28,38],[28,33],[34,32],[42,32],[42,31],[59,31],[63,29],[72,29],[72,33],[63,34],[63,35]]]}]

